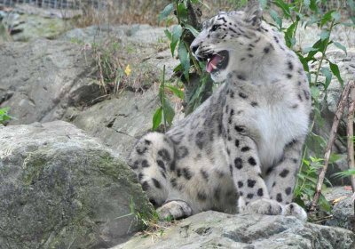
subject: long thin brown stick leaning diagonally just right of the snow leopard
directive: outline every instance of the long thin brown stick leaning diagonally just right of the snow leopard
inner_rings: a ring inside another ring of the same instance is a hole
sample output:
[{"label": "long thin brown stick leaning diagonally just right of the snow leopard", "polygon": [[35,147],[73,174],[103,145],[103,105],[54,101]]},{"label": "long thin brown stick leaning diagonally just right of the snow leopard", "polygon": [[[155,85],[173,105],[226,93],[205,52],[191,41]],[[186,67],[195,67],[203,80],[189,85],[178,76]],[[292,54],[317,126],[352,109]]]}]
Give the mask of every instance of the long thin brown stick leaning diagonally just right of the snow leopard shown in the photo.
[{"label": "long thin brown stick leaning diagonally just right of the snow leopard", "polygon": [[333,119],[333,125],[332,125],[332,129],[330,131],[330,136],[329,136],[329,140],[327,141],[327,147],[326,147],[326,153],[324,155],[324,166],[321,169],[319,176],[318,176],[318,182],[317,182],[317,189],[316,189],[316,193],[314,194],[313,200],[312,200],[312,205],[310,208],[310,212],[314,212],[316,210],[317,204],[318,204],[318,200],[319,200],[319,196],[321,193],[321,187],[323,185],[323,181],[324,181],[324,177],[326,176],[326,172],[327,172],[327,165],[329,164],[329,158],[330,158],[330,154],[332,152],[332,146],[334,144],[335,141],[335,137],[336,137],[336,131],[338,129],[339,126],[339,122],[340,119],[342,118],[343,115],[343,109],[346,105],[346,100],[348,98],[349,92],[351,90],[351,87],[353,87],[354,82],[349,82],[342,93],[342,96],[340,98],[338,107],[336,108],[335,111],[335,116]]}]

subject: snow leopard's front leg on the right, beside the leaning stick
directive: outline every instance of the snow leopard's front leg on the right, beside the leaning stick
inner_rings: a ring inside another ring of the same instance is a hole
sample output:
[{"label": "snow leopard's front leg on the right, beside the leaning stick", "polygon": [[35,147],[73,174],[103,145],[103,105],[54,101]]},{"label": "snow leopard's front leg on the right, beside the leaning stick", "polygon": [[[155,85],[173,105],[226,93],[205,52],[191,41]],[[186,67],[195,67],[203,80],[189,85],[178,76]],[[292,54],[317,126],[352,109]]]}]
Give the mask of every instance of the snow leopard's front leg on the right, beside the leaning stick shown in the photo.
[{"label": "snow leopard's front leg on the right, beside the leaning stick", "polygon": [[296,185],[296,174],[301,165],[304,138],[290,141],[284,148],[280,162],[266,169],[265,181],[270,198],[284,206],[284,215],[296,216],[301,221],[307,220],[304,209],[292,203]]}]

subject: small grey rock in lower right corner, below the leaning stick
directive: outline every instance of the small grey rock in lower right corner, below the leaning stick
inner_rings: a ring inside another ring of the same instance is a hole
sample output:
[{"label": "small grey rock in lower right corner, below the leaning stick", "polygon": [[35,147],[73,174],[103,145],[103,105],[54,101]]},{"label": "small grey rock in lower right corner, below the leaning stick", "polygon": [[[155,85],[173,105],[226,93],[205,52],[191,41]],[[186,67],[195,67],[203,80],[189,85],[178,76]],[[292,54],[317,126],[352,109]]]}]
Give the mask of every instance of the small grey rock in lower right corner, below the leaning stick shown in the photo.
[{"label": "small grey rock in lower right corner, below the leaning stick", "polygon": [[335,203],[332,210],[333,217],[326,221],[326,225],[350,229],[355,232],[355,208],[352,191],[344,189],[344,187],[330,188],[327,189],[325,197]]}]

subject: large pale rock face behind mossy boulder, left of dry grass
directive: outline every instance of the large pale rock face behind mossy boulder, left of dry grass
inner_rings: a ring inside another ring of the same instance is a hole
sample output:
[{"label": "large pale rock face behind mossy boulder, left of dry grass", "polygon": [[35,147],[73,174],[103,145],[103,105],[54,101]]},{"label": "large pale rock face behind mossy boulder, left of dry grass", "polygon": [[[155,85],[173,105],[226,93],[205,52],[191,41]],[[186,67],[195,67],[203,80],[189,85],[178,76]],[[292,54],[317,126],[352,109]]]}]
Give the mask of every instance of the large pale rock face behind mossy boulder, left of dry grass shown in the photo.
[{"label": "large pale rock face behind mossy boulder, left of dry grass", "polygon": [[63,41],[0,45],[0,106],[10,124],[61,119],[68,106],[91,105],[103,92],[93,82],[91,51]]}]

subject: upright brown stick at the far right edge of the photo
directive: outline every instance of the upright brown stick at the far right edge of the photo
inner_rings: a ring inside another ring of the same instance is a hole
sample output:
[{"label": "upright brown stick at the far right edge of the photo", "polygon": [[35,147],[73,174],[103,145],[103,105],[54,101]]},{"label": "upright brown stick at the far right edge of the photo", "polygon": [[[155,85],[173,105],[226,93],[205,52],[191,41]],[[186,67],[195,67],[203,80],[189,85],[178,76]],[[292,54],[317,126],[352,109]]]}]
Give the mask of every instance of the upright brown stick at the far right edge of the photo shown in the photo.
[{"label": "upright brown stick at the far right edge of the photo", "polygon": [[[350,83],[349,83],[350,84]],[[349,112],[348,112],[348,124],[347,124],[347,137],[348,137],[348,165],[349,169],[355,169],[354,158],[354,111],[355,111],[355,87],[352,82],[351,91],[349,94]],[[352,192],[355,192],[355,175],[351,175],[351,188]]]}]

